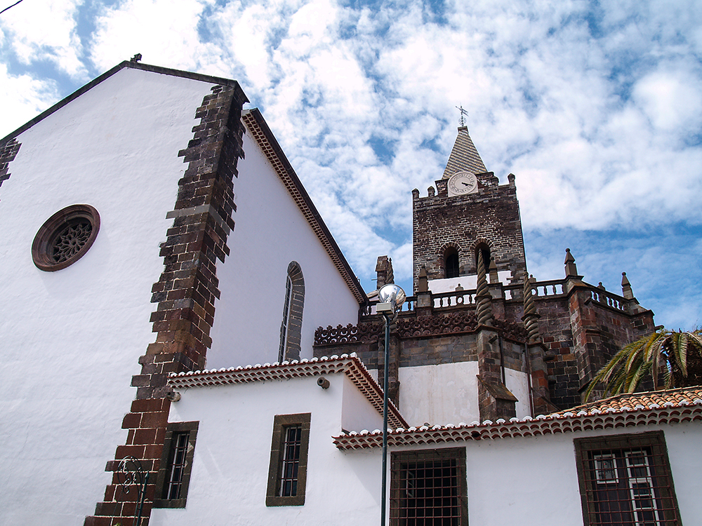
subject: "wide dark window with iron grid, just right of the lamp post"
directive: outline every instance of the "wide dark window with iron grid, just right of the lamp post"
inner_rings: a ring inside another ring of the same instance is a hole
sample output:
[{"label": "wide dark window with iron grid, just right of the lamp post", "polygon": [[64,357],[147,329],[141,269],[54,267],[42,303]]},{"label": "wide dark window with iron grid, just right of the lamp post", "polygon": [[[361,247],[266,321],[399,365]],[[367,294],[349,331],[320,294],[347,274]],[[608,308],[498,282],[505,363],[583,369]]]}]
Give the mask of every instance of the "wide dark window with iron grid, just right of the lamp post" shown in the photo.
[{"label": "wide dark window with iron grid, just right of the lamp post", "polygon": [[468,525],[465,448],[392,453],[390,525]]}]

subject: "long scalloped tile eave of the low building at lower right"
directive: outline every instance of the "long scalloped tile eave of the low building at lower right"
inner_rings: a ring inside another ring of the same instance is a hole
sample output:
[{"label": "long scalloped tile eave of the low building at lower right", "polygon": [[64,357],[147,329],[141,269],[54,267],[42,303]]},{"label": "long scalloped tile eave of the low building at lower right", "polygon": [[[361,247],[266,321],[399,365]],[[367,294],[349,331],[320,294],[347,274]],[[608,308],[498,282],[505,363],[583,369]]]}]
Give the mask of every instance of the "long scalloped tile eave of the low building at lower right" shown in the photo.
[{"label": "long scalloped tile eave of the low building at lower right", "polygon": [[[665,391],[670,393],[670,391]],[[646,402],[648,395],[655,394],[668,398],[659,403]],[[680,396],[675,396],[680,395]],[[543,415],[536,418],[512,418],[510,422],[498,419],[496,422],[472,422],[471,424],[446,426],[421,426],[419,428],[395,429],[388,434],[388,445],[432,445],[439,443],[465,442],[468,440],[497,440],[499,438],[519,438],[523,436],[552,435],[574,431],[594,431],[619,427],[651,426],[661,424],[679,424],[682,422],[702,421],[702,388],[674,389],[669,397],[662,396],[661,391],[640,393],[629,396],[630,405],[580,409],[578,407],[559,413]],[[638,398],[638,400],[636,399]],[[608,399],[609,400],[609,399]],[[606,400],[601,400],[606,401]],[[333,442],[340,450],[358,450],[369,447],[381,447],[383,433],[380,431],[361,431],[343,433],[333,437]]]}]

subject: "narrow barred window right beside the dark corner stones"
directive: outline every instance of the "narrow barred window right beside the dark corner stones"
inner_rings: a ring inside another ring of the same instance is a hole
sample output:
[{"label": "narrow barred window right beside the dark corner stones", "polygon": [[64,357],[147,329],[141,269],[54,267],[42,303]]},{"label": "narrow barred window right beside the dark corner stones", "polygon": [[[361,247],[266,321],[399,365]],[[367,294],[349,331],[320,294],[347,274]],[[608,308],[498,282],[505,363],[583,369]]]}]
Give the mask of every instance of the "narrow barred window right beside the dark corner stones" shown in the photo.
[{"label": "narrow barred window right beside the dark corner stones", "polygon": [[156,480],[154,508],[185,508],[198,422],[173,422],[166,429]]}]

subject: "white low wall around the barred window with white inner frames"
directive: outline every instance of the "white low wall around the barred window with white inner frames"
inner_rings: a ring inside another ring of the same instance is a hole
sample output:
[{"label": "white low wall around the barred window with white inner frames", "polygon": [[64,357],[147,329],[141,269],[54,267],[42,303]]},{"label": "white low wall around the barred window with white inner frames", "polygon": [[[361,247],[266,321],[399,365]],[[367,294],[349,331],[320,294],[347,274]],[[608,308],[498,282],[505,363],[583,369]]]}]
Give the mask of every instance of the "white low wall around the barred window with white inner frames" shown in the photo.
[{"label": "white low wall around the barred window with white inner frames", "polygon": [[695,517],[702,516],[698,423],[470,442],[466,448],[468,523],[582,526],[574,439],[659,429],[665,433],[682,522],[694,523]]}]

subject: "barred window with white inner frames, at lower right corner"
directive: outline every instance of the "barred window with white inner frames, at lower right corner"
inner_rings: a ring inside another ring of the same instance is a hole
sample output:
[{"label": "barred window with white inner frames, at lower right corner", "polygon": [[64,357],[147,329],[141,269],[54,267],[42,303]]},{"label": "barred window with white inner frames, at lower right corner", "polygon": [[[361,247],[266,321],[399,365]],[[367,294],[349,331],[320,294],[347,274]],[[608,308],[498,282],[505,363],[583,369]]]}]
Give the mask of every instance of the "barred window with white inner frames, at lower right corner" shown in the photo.
[{"label": "barred window with white inner frames, at lower right corner", "polygon": [[680,525],[663,431],[578,438],[585,526]]}]

